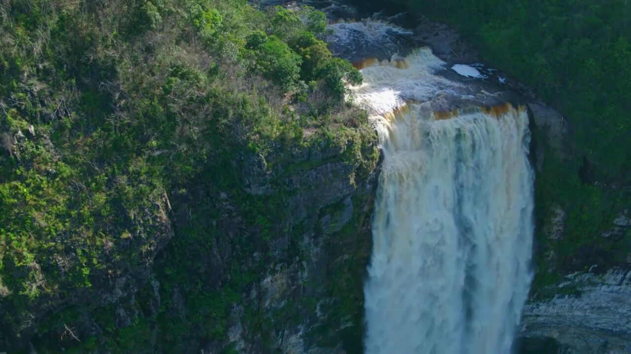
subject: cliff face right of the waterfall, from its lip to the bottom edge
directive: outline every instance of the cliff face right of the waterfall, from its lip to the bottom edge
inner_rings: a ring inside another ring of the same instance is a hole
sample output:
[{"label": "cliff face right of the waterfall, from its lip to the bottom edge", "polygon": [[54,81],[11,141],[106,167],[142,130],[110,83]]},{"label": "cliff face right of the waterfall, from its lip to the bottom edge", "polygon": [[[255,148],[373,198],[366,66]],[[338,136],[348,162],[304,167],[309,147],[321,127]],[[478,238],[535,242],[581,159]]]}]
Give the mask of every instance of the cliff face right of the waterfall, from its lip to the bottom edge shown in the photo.
[{"label": "cliff face right of the waterfall, from its lip to the bottom edge", "polygon": [[[567,173],[566,183],[575,183],[571,169],[558,168],[559,164],[572,166],[577,158],[572,151],[572,128],[560,113],[540,101],[528,107],[533,121],[531,155],[538,178],[538,217],[536,275],[519,330],[522,352],[626,353],[631,350],[628,188],[593,180],[589,174],[594,171],[587,173],[584,166],[579,183],[596,191],[610,209],[589,210],[582,205],[577,212],[576,205],[562,207],[565,191],[560,187],[553,193],[556,183],[551,174]],[[572,230],[577,219],[593,227]]]}]

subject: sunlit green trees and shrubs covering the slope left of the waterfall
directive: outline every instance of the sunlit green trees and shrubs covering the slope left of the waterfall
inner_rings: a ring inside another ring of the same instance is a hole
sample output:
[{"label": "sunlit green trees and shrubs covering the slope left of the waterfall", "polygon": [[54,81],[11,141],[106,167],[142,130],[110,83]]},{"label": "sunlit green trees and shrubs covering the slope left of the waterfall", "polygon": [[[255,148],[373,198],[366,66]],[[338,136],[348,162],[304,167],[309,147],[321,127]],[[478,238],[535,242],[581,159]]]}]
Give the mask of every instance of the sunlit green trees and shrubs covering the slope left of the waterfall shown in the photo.
[{"label": "sunlit green trees and shrubs covering the slope left of the waterfall", "polygon": [[[362,77],[331,57],[324,14],[245,0],[6,0],[0,23],[0,351],[31,341],[39,353],[129,353],[151,340],[184,352],[222,339],[252,275],[237,266],[225,290],[204,288],[190,257],[215,242],[203,222],[216,210],[201,198],[173,231],[169,209],[194,199],[192,185],[232,191],[265,229],[268,201],[239,184],[243,156],[346,147],[369,129],[343,102]],[[155,272],[162,290],[192,294],[196,317],[163,300],[119,325],[100,292],[146,277],[173,232]],[[79,341],[86,311],[100,329]]]}]

